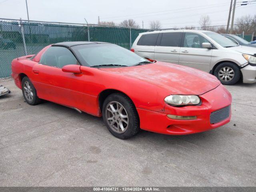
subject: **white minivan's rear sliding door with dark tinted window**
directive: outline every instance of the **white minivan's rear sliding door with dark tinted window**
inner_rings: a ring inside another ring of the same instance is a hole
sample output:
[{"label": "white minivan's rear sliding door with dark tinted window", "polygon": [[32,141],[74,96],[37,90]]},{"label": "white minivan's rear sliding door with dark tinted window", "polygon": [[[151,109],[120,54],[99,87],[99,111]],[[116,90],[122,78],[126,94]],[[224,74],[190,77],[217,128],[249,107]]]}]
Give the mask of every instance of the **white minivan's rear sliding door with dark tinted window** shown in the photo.
[{"label": "white minivan's rear sliding door with dark tinted window", "polygon": [[183,32],[160,33],[155,47],[155,60],[178,64]]}]

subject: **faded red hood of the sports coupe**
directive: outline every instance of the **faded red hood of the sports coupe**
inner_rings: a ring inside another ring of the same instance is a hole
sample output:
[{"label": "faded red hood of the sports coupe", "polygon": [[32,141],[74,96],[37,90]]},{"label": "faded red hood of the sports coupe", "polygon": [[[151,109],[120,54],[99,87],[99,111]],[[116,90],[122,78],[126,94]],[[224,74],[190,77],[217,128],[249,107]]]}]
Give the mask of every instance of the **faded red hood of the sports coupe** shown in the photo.
[{"label": "faded red hood of the sports coupe", "polygon": [[100,70],[154,84],[170,94],[201,95],[220,84],[220,81],[211,74],[165,62],[122,68],[100,68]]}]

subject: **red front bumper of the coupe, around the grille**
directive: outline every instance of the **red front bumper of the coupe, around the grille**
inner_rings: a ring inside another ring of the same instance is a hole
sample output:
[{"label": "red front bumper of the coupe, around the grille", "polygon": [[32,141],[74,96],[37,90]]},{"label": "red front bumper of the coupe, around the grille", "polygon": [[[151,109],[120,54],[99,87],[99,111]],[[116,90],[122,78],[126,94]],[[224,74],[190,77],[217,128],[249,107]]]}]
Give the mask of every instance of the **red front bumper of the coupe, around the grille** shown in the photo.
[{"label": "red front bumper of the coupe, around the grille", "polygon": [[[228,118],[216,124],[210,124],[210,114],[216,110],[231,105],[232,96],[220,85],[216,89],[200,95],[202,105],[173,107],[166,104],[164,112],[154,112],[137,108],[140,116],[140,128],[151,132],[169,135],[185,135],[204,132],[218,128],[230,122],[231,112]],[[195,120],[174,120],[167,114],[179,116],[197,116]]]}]

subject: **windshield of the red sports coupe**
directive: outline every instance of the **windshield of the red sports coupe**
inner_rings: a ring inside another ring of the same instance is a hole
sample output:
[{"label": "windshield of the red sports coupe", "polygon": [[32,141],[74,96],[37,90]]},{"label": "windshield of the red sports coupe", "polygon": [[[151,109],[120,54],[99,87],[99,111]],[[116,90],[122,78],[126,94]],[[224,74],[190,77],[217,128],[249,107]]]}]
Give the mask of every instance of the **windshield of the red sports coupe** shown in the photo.
[{"label": "windshield of the red sports coupe", "polygon": [[85,44],[72,47],[84,66],[134,66],[148,60],[114,44]]}]

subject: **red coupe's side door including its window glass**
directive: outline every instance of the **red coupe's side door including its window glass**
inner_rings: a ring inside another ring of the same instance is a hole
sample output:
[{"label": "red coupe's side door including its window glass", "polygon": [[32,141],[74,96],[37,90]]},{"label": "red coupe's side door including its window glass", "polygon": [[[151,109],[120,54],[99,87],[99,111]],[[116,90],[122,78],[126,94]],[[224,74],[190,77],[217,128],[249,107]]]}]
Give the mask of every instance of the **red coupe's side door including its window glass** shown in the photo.
[{"label": "red coupe's side door including its window glass", "polygon": [[[69,64],[79,64],[72,52],[62,46],[51,46],[32,68],[33,84],[38,97],[81,108],[81,103],[86,100],[86,95],[80,91],[80,88],[84,88],[83,74],[63,72],[62,67]],[[83,110],[86,110],[86,106]]]}]

